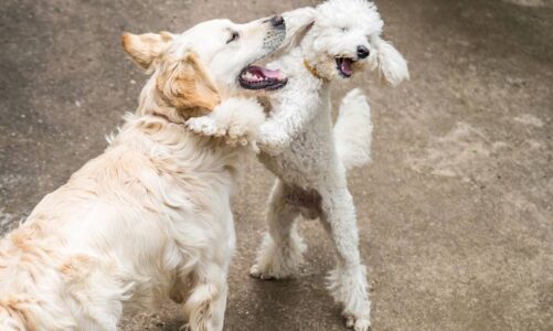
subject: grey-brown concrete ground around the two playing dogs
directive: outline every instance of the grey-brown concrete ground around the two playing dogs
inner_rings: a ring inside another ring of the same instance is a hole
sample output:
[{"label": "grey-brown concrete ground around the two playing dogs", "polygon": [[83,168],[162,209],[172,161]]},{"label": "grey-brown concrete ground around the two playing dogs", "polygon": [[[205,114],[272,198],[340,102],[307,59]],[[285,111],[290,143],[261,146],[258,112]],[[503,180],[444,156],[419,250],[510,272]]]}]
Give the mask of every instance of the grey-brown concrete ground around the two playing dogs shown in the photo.
[{"label": "grey-brown concrete ground around the two playing dogs", "polygon": [[[354,85],[373,109],[373,162],[350,175],[373,330],[553,330],[553,1],[377,1],[412,81]],[[247,21],[315,1],[3,0],[0,232],[106,147],[146,76],[123,31]],[[327,295],[331,245],[304,222],[297,279],[247,276],[273,178],[254,160],[234,200],[226,330],[344,330]],[[177,306],[123,330],[178,330]]]}]

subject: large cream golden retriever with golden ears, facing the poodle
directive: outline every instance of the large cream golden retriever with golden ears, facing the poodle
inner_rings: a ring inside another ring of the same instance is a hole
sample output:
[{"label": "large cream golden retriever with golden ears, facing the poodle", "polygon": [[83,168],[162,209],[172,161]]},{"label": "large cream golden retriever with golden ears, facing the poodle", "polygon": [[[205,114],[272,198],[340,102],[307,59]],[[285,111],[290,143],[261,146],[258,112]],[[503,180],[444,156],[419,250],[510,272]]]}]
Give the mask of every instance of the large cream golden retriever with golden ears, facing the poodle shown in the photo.
[{"label": "large cream golden retriever with golden ears, facing the poodle", "polygon": [[[227,43],[233,30],[241,43]],[[124,36],[152,73],[138,110],[0,241],[0,330],[116,330],[124,313],[169,297],[183,302],[191,330],[222,330],[230,196],[251,149],[198,136],[185,121],[214,107],[238,141],[255,139],[263,109],[235,97],[235,82],[278,34],[266,20],[216,20],[180,35]]]}]

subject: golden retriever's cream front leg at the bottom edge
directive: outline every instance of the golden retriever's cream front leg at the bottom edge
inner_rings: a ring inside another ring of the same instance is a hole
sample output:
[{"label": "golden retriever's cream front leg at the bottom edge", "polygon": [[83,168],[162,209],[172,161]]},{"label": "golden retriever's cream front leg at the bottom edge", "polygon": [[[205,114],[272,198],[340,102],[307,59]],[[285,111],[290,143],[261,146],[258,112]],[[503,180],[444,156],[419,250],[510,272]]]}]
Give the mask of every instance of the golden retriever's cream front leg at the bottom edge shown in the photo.
[{"label": "golden retriever's cream front leg at the bottom edge", "polygon": [[[223,330],[226,309],[226,274],[225,268],[209,266],[211,276],[203,276],[184,303],[184,316],[188,323],[182,330],[221,331]],[[200,277],[200,276],[199,276]],[[211,277],[211,279],[208,279]]]}]

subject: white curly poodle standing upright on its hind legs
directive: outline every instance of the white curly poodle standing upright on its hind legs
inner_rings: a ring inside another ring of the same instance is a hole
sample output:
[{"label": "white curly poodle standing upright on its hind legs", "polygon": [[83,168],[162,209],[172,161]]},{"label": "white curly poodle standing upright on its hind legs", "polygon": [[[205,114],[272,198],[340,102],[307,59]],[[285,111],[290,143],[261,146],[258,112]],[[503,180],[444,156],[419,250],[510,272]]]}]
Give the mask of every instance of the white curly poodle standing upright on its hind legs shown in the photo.
[{"label": "white curly poodle standing upright on its hind legs", "polygon": [[306,245],[295,220],[299,214],[318,217],[337,254],[328,288],[343,306],[347,325],[364,331],[371,324],[371,308],[345,170],[370,160],[371,115],[365,96],[353,89],[344,97],[332,131],[330,83],[369,66],[395,86],[408,78],[407,64],[381,39],[383,21],[372,2],[330,0],[284,17],[287,29],[313,22],[296,47],[269,64],[289,81],[269,95],[270,118],[257,137],[259,160],[277,180],[268,202],[268,232],[251,275],[269,279],[296,274]]}]

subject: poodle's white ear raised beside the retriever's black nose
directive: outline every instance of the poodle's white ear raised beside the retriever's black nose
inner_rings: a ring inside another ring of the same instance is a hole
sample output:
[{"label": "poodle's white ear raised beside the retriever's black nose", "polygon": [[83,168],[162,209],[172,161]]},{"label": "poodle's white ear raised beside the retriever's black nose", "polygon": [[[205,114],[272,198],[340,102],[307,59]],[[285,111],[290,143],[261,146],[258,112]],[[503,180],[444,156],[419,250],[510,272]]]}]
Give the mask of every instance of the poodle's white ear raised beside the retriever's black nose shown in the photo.
[{"label": "poodle's white ear raised beside the retriever's black nose", "polygon": [[283,13],[286,24],[286,39],[281,49],[290,50],[297,46],[313,25],[316,17],[317,10],[311,7],[304,7]]}]

